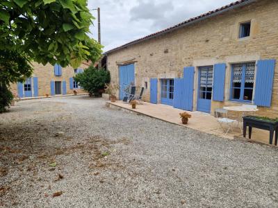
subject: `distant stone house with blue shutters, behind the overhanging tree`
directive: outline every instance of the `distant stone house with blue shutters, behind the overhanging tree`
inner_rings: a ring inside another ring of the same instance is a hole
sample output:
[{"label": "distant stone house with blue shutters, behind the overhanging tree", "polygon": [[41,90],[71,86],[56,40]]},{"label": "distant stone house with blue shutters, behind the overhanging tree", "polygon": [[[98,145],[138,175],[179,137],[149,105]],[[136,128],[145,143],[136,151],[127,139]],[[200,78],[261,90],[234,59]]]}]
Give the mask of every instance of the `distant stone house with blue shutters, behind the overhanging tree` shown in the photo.
[{"label": "distant stone house with blue shutters, behind the overhanging tree", "polygon": [[58,64],[38,64],[33,62],[33,74],[27,78],[25,83],[12,84],[10,86],[13,94],[19,98],[38,97],[54,95],[83,93],[83,89],[74,81],[74,75],[81,73],[83,69],[88,68],[90,64],[83,62],[78,69],[72,67],[61,67]]}]

